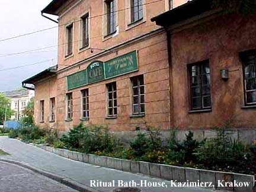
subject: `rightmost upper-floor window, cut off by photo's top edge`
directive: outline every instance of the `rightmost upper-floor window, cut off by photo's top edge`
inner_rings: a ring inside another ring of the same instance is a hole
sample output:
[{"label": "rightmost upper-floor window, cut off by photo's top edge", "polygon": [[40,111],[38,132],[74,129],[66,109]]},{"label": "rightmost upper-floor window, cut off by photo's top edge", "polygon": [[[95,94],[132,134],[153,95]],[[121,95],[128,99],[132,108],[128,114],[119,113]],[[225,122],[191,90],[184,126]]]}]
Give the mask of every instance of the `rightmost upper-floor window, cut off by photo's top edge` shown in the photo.
[{"label": "rightmost upper-floor window, cut off by photo's top edge", "polygon": [[142,20],[143,18],[143,0],[131,0],[131,23]]}]

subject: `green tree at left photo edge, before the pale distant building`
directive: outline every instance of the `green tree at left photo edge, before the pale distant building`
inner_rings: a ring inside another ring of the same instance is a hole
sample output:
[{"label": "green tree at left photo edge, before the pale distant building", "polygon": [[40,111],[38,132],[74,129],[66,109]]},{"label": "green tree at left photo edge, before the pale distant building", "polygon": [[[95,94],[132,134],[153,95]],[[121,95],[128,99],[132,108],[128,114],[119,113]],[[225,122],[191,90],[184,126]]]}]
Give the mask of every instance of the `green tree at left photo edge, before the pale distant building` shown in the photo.
[{"label": "green tree at left photo edge, before the pale distant building", "polygon": [[4,123],[5,116],[7,116],[7,119],[9,119],[12,113],[13,111],[11,110],[11,102],[9,98],[0,93],[0,124]]}]

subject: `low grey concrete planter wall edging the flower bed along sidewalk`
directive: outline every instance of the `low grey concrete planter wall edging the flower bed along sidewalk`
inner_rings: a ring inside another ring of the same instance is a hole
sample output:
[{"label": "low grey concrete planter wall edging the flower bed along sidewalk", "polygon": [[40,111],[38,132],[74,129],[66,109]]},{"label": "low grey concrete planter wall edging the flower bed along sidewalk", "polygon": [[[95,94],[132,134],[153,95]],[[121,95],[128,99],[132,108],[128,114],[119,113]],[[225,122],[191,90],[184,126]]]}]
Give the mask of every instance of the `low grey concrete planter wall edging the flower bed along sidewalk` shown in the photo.
[{"label": "low grey concrete planter wall edging the flower bed along sidewalk", "polygon": [[[101,167],[113,168],[121,171],[140,173],[151,175],[165,180],[176,180],[180,182],[212,182],[216,189],[229,191],[254,191],[255,178],[254,175],[235,174],[232,172],[208,171],[203,169],[193,169],[185,167],[177,167],[171,165],[152,164],[143,161],[130,161],[126,159],[111,158],[108,156],[98,156],[79,152],[68,151],[66,149],[55,149],[49,146],[37,145],[39,148],[65,158],[73,159],[98,165]],[[249,187],[217,187],[217,181],[224,182],[250,182]]]}]

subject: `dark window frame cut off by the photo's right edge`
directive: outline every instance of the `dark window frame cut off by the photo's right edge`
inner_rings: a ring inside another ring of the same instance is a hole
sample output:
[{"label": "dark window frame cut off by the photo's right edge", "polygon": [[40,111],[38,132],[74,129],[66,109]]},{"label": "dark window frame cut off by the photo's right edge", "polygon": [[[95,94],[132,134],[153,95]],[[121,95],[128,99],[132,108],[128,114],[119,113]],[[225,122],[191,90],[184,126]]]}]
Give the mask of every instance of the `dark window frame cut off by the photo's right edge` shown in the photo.
[{"label": "dark window frame cut off by the photo's right edge", "polygon": [[[245,76],[245,59],[247,59],[246,57],[248,56],[252,56],[255,55],[256,56],[256,49],[253,50],[247,50],[245,52],[241,52],[239,53],[239,57],[241,59],[242,62],[242,76],[243,76],[243,85],[244,85],[244,105],[246,107],[256,107],[256,102],[252,102],[252,103],[248,103],[247,102],[247,92],[253,92],[256,91],[256,89],[251,89],[251,90],[247,90],[247,79]],[[256,63],[254,64],[254,68],[255,68],[255,72],[256,72]]]}]

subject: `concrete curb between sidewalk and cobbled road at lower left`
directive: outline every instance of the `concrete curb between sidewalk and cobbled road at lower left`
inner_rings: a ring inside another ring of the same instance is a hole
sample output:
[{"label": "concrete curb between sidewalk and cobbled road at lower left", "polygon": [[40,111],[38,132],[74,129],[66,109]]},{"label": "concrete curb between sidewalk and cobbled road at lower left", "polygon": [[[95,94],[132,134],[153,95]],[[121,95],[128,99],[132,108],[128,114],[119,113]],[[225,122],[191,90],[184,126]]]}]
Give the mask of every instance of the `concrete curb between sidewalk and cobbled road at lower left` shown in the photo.
[{"label": "concrete curb between sidewalk and cobbled road at lower left", "polygon": [[24,164],[23,162],[18,162],[18,161],[13,161],[13,160],[9,160],[9,159],[0,159],[0,161],[2,162],[7,162],[9,164],[15,164],[18,165],[20,167],[26,168],[26,169],[30,169],[31,171],[34,171],[40,175],[43,175],[45,177],[48,177],[52,180],[55,180],[61,184],[64,184],[68,187],[71,187],[77,191],[82,191],[82,192],[98,192],[98,190],[95,190],[91,187],[88,187],[87,185],[83,185],[81,183],[78,183],[76,181],[71,180],[70,178],[65,178],[61,175],[57,175],[57,174],[53,174],[52,172],[48,172],[48,171],[43,171],[39,168],[33,167],[31,165],[28,164]]}]

